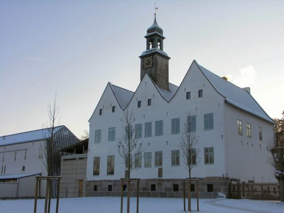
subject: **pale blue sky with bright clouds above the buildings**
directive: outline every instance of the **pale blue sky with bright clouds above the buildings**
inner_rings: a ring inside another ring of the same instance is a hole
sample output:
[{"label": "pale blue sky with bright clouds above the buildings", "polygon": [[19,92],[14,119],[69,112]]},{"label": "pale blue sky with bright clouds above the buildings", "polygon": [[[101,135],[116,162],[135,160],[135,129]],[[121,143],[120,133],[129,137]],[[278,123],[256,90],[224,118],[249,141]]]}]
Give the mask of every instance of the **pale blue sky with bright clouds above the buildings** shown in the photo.
[{"label": "pale blue sky with bright clouds above the buildings", "polygon": [[[280,117],[284,1],[156,2],[171,83],[195,59]],[[0,0],[0,135],[42,128],[56,92],[61,124],[80,137],[107,82],[135,91],[154,3]]]}]

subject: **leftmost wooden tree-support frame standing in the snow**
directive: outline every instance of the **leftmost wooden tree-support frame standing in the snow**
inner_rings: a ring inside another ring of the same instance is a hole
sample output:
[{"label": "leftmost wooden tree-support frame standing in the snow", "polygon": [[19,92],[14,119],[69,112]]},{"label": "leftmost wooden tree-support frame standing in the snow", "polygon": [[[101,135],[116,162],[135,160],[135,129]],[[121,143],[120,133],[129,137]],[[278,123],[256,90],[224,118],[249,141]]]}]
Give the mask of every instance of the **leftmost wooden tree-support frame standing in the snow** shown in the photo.
[{"label": "leftmost wooden tree-support frame standing in the snow", "polygon": [[58,206],[59,206],[59,191],[60,191],[60,180],[61,176],[36,176],[36,183],[35,183],[35,194],[34,194],[34,209],[33,212],[36,213],[36,204],[37,204],[37,189],[39,188],[39,181],[46,180],[46,190],[45,190],[45,204],[44,204],[44,213],[50,212],[50,201],[51,201],[51,194],[52,194],[52,180],[57,180],[57,198],[56,198],[56,213],[58,213]]}]

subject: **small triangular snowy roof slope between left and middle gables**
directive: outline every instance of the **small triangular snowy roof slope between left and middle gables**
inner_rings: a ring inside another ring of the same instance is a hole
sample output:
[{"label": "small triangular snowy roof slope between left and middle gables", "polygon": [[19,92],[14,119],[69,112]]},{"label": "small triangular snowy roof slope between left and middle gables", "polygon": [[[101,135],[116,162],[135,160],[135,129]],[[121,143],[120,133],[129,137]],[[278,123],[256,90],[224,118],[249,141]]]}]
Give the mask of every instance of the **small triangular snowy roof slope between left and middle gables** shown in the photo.
[{"label": "small triangular snowy roof slope between left and middle gables", "polygon": [[116,99],[120,105],[120,107],[124,110],[126,108],[126,106],[128,105],[128,103],[130,102],[132,96],[134,95],[134,92],[112,85],[111,83],[109,83],[113,93],[116,96]]}]

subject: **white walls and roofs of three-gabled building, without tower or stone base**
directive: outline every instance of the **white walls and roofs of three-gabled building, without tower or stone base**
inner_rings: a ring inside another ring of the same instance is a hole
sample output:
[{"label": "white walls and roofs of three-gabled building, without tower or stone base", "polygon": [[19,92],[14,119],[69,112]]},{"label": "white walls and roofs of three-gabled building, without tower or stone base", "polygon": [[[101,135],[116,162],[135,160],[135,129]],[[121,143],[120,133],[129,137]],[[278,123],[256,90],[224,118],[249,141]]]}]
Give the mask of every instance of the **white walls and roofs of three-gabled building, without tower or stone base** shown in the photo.
[{"label": "white walls and roofs of three-gabled building, without tower or stone base", "polygon": [[[144,75],[135,93],[122,90],[108,83],[89,120],[88,181],[124,178],[125,165],[118,153],[118,141],[125,134],[121,118],[126,106],[129,112],[134,113],[135,124],[142,124],[142,138],[138,139],[143,150],[142,166],[131,171],[131,178],[158,178],[156,151],[162,151],[162,178],[188,178],[180,141],[183,125],[190,114],[196,115],[196,148],[199,149],[200,160],[192,171],[192,177],[227,175],[241,181],[275,181],[273,168],[268,163],[270,153],[267,150],[267,144],[273,138],[274,124],[247,91],[214,75],[196,61],[192,63],[179,88],[172,86],[172,91],[158,88],[148,74]],[[199,90],[202,90],[202,98],[198,97]],[[186,99],[186,92],[191,92],[191,99]],[[147,106],[148,99],[152,100],[151,106]],[[139,108],[138,101],[141,101]],[[112,112],[112,106],[116,106],[115,112]],[[213,113],[214,128],[211,130],[204,130],[204,114],[207,113]],[[172,119],[176,118],[180,119],[180,131],[172,134]],[[163,134],[155,136],[155,121],[161,120]],[[237,120],[242,121],[242,135],[238,134]],[[152,122],[152,137],[144,137],[146,122]],[[246,123],[251,124],[251,138],[247,137]],[[116,129],[115,141],[108,141],[108,129],[111,127]],[[259,140],[258,127],[262,130],[262,141]],[[96,130],[101,130],[99,143],[95,143]],[[204,162],[206,147],[214,148],[213,164]],[[172,150],[180,150],[178,166],[172,166]],[[152,152],[151,167],[144,167],[144,152]],[[107,175],[107,156],[115,156],[114,175]],[[98,176],[93,176],[94,157],[100,157]]]}]

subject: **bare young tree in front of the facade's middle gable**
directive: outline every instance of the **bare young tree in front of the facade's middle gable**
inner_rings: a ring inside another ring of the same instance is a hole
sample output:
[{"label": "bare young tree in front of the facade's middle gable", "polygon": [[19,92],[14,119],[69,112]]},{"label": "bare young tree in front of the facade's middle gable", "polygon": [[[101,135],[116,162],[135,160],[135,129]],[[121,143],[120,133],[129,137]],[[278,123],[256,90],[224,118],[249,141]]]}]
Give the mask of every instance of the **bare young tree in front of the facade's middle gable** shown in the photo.
[{"label": "bare young tree in front of the facade's middle gable", "polygon": [[118,143],[118,152],[127,170],[126,178],[130,178],[130,172],[135,168],[135,159],[142,151],[141,146],[137,145],[138,135],[135,135],[134,121],[134,114],[126,108],[121,119],[124,131]]}]

